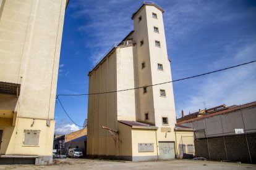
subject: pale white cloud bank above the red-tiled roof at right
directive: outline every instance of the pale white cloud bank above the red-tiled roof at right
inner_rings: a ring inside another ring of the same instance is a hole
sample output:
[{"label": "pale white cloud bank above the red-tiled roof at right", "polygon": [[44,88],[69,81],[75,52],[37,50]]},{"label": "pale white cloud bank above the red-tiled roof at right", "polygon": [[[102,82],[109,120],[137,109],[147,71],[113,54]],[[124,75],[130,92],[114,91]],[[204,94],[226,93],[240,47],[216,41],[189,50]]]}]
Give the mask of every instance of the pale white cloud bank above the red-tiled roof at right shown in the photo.
[{"label": "pale white cloud bank above the red-tiled roof at right", "polygon": [[[236,55],[231,55],[228,59],[223,58],[216,61],[214,68],[223,68],[223,65],[237,65],[243,62],[255,60],[255,45],[248,44],[237,51]],[[227,62],[228,63],[224,63]],[[222,63],[222,64],[221,64]],[[224,63],[224,64],[223,64]],[[184,102],[176,103],[176,115],[181,116],[183,109],[186,114],[203,109],[205,105],[207,108],[215,107],[217,105],[239,105],[256,100],[256,64],[251,63],[238,68],[222,71],[221,73],[214,73],[212,75],[204,76],[202,81],[195,80],[193,84],[194,92],[192,92],[188,99]],[[189,82],[187,82],[189,84]]]}]

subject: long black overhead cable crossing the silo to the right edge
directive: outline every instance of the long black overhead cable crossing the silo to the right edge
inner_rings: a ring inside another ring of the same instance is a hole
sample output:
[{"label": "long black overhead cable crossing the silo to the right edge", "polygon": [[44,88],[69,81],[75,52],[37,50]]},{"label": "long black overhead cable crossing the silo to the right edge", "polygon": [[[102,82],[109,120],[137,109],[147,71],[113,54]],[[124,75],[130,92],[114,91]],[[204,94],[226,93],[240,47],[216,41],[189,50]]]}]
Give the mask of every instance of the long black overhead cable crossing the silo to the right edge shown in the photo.
[{"label": "long black overhead cable crossing the silo to the right edge", "polygon": [[[253,60],[251,62],[247,62],[247,63],[242,63],[242,64],[239,64],[239,65],[234,65],[232,67],[227,67],[227,68],[223,68],[223,69],[220,69],[220,70],[215,70],[215,71],[210,71],[210,72],[207,72],[207,73],[203,73],[201,75],[195,75],[195,76],[190,76],[190,77],[187,77],[187,78],[181,78],[181,79],[176,79],[176,80],[173,80],[173,81],[167,81],[167,82],[164,82],[164,83],[158,83],[158,84],[151,84],[151,85],[148,85],[148,86],[143,86],[143,87],[151,87],[151,86],[158,86],[158,85],[161,85],[161,84],[167,84],[167,83],[173,83],[173,82],[176,82],[176,81],[182,81],[182,80],[185,80],[185,79],[190,79],[190,78],[196,78],[196,77],[199,77],[199,76],[205,76],[205,75],[210,75],[211,73],[216,73],[216,72],[219,72],[219,71],[224,71],[224,70],[228,70],[228,69],[231,69],[231,68],[236,68],[236,67],[240,67],[242,65],[247,65],[249,63],[254,63],[256,62],[256,60]],[[98,92],[98,93],[90,93],[90,94],[58,94],[56,99],[59,99],[58,97],[60,95],[62,96],[77,96],[77,95],[96,95],[96,94],[108,94],[108,93],[113,93],[113,92],[123,92],[123,91],[130,91],[130,90],[134,90],[134,89],[141,89],[143,87],[135,87],[135,88],[130,88],[130,89],[124,89],[124,90],[119,90],[119,91],[109,91],[109,92]]]}]

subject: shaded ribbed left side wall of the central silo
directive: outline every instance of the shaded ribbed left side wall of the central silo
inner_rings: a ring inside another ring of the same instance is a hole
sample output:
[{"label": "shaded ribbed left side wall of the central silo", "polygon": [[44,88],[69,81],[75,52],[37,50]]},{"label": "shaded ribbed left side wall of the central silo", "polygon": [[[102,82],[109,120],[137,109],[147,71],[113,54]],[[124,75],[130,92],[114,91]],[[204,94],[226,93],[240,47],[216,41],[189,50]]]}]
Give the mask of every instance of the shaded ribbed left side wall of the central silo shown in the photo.
[{"label": "shaded ribbed left side wall of the central silo", "polygon": [[[89,93],[116,91],[116,51],[113,51],[89,75]],[[117,130],[116,93],[88,96],[88,155],[117,155],[111,134],[102,129]]]}]

